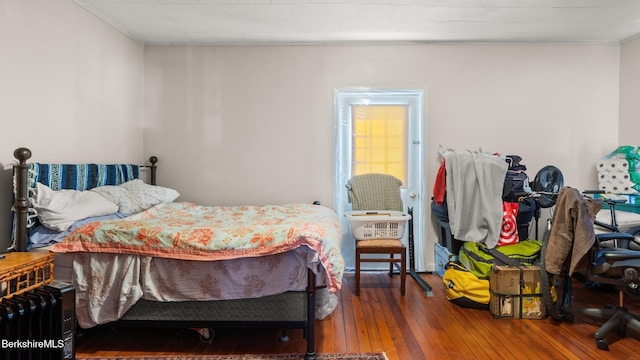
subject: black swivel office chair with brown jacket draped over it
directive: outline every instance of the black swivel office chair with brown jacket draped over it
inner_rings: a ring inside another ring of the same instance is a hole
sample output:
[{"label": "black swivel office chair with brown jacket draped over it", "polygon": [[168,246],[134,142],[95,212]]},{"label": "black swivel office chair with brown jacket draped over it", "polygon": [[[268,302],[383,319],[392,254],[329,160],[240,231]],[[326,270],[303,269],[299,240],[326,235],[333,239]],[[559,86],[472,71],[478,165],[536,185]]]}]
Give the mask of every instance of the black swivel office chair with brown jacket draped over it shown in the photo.
[{"label": "black swivel office chair with brown jacket draped over it", "polygon": [[[610,331],[616,330],[619,336],[625,336],[627,328],[640,331],[640,315],[625,307],[625,295],[640,296],[640,251],[629,249],[629,244],[636,241],[632,234],[613,227],[612,232],[595,233],[593,225],[599,209],[599,204],[585,199],[576,189],[560,191],[550,236],[545,235],[543,244],[541,285],[554,320],[573,321],[575,314],[606,319],[594,337],[599,349],[608,350],[604,337]],[[613,286],[618,291],[618,303],[600,308],[572,306],[574,273],[584,275],[587,284]]]}]

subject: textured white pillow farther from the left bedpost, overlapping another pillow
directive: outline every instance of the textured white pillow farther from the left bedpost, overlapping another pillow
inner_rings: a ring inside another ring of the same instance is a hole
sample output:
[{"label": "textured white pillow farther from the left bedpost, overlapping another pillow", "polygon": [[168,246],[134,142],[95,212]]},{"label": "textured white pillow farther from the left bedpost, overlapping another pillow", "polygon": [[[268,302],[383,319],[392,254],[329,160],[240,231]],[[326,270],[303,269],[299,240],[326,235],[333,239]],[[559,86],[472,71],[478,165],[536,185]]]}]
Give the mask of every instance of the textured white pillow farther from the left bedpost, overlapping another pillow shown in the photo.
[{"label": "textured white pillow farther from the left bedpost, overlapping another pillow", "polygon": [[176,190],[149,185],[140,179],[118,186],[99,186],[91,191],[118,204],[120,212],[127,214],[137,213],[159,203],[172,202],[180,196]]}]

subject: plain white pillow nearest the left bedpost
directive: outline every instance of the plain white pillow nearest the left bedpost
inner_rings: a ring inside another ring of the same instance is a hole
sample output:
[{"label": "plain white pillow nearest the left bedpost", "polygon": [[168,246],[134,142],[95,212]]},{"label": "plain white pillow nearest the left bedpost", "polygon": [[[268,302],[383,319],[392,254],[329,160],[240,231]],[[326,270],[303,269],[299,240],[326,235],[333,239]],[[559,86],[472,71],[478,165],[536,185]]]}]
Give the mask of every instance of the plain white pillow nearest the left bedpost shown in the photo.
[{"label": "plain white pillow nearest the left bedpost", "polygon": [[42,225],[65,231],[74,222],[92,216],[115,214],[118,205],[90,191],[58,190],[37,183],[33,207]]}]

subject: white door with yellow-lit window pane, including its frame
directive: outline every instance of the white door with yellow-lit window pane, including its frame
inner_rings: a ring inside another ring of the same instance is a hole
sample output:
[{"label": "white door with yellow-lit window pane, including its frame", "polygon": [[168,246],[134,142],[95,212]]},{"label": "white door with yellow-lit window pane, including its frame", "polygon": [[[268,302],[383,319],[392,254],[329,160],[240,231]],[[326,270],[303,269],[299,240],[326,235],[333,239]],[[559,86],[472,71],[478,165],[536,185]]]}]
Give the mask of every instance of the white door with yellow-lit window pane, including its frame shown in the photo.
[{"label": "white door with yellow-lit window pane, including its frame", "polygon": [[[413,209],[414,260],[425,270],[424,91],[337,89],[334,94],[334,209],[342,221],[342,253],[355,264],[345,212],[351,210],[345,184],[359,173],[394,175],[403,182],[405,209]],[[407,232],[403,239],[407,244]]]}]

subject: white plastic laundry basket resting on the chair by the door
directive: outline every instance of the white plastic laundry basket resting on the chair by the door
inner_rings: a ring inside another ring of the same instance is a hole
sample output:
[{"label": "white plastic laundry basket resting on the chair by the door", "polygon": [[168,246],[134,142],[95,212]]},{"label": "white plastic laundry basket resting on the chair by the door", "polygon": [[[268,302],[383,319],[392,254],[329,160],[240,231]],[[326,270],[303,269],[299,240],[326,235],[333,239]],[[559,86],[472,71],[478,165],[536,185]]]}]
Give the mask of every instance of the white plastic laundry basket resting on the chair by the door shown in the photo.
[{"label": "white plastic laundry basket resting on the chair by the door", "polygon": [[356,240],[402,239],[411,215],[402,211],[347,211],[351,235]]}]

